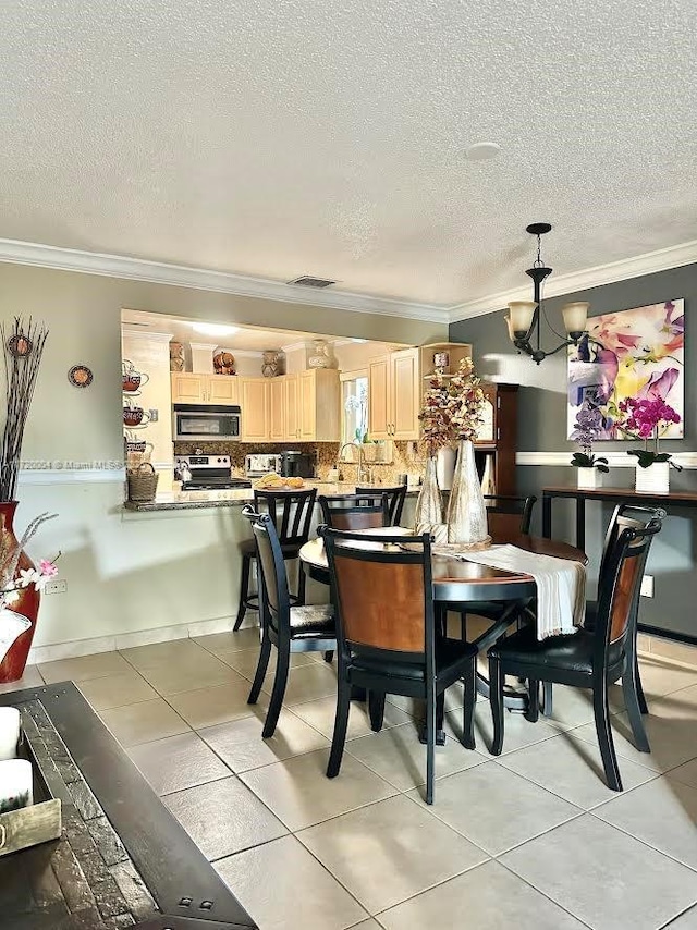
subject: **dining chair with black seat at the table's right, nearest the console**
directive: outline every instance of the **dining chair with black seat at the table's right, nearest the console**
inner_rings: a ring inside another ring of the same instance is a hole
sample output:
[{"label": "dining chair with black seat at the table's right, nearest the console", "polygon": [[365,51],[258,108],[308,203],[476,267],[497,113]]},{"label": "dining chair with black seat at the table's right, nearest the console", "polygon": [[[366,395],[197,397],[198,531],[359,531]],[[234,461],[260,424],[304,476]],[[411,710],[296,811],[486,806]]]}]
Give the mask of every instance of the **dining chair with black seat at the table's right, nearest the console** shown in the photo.
[{"label": "dining chair with black seat at the table's right, nearest the console", "polygon": [[[663,514],[657,511],[657,514]],[[608,786],[622,791],[622,779],[610,726],[608,685],[622,678],[622,690],[640,752],[649,752],[641,720],[634,664],[628,661],[636,632],[639,590],[644,566],[653,537],[660,531],[662,516],[657,515],[641,528],[622,529],[603,561],[598,585],[598,611],[594,629],[579,629],[565,636],[538,640],[533,625],[524,626],[490,647],[489,687],[493,741],[491,752],[503,748],[503,684],[505,675],[528,682],[526,717],[536,722],[539,713],[539,683],[553,682],[589,688],[592,692],[596,733]]]}]

